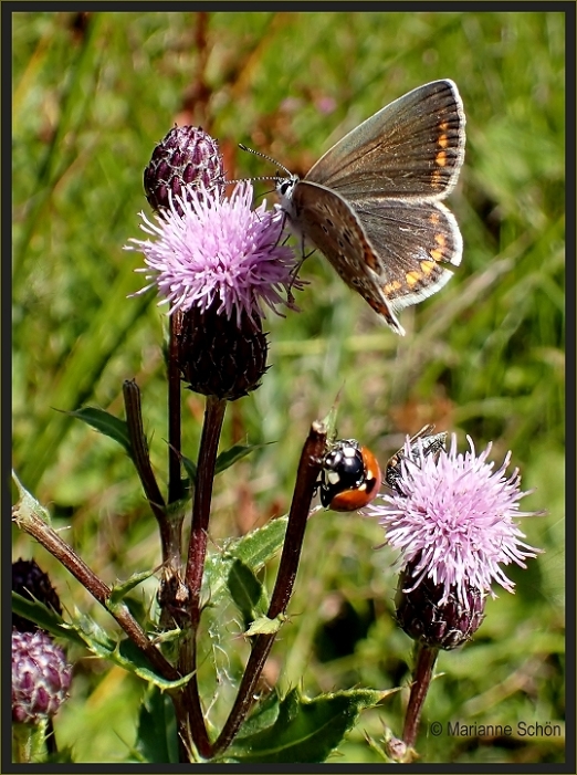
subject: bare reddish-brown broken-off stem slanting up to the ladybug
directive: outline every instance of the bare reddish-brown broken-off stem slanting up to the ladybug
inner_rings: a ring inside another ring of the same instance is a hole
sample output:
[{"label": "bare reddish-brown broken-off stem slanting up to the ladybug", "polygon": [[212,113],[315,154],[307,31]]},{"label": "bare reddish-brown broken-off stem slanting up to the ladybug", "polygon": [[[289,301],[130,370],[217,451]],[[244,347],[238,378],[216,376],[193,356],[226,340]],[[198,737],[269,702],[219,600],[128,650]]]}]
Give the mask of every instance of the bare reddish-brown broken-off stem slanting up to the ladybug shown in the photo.
[{"label": "bare reddish-brown broken-off stem slanting up to the ladybug", "polygon": [[[323,423],[313,422],[301,453],[293,501],[288,513],[288,525],[286,528],[283,553],[276,575],[276,583],[271,597],[271,604],[269,606],[267,617],[270,619],[274,619],[280,614],[284,614],[291,599],[296,572],[298,569],[304,532],[311,510],[311,501],[313,500],[315,485],[321,472],[323,454],[326,448],[326,427]],[[275,637],[276,633],[255,636],[237,699],[222,727],[222,732],[214,742],[213,754],[224,751],[230,745],[246,718],[254,702],[256,683]]]}]

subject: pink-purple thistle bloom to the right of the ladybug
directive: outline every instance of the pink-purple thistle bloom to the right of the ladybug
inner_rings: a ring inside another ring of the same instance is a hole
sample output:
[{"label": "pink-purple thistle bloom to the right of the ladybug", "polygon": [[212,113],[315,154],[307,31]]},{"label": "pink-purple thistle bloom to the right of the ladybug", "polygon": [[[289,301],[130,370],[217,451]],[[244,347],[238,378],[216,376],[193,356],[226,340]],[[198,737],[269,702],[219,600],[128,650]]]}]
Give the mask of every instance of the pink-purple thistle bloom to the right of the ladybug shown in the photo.
[{"label": "pink-purple thistle bloom to the right of the ladybug", "polygon": [[521,541],[525,535],[513,521],[542,512],[518,511],[518,502],[528,493],[520,491],[518,469],[505,475],[511,452],[493,471],[494,463],[485,462],[492,444],[476,457],[473,441],[469,437],[468,441],[471,451],[464,454],[457,452],[453,434],[449,452],[427,455],[419,439],[418,461],[415,450],[411,459],[407,442],[397,492],[381,495],[385,503],[365,510],[380,517],[386,543],[401,549],[402,569],[415,561],[412,585],[403,591],[430,578],[442,587],[439,605],[451,593],[466,605],[470,586],[496,597],[493,582],[513,593],[515,585],[500,565],[514,562],[525,568],[523,561],[541,552]]}]

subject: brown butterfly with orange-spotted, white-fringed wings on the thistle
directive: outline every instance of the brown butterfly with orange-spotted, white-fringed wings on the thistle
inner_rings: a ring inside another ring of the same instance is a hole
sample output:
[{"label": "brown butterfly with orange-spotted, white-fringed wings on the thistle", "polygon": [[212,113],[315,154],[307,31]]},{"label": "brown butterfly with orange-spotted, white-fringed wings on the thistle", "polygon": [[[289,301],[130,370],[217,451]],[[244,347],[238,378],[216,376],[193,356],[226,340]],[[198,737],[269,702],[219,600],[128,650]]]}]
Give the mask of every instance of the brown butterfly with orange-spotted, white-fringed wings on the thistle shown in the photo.
[{"label": "brown butterfly with orange-spotted, white-fringed wings on the thistle", "polygon": [[433,81],[348,133],[304,178],[276,178],[280,207],[397,334],[396,313],[437,293],[463,240],[442,203],[464,159],[457,85]]}]

